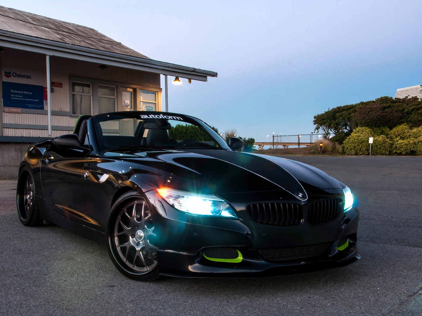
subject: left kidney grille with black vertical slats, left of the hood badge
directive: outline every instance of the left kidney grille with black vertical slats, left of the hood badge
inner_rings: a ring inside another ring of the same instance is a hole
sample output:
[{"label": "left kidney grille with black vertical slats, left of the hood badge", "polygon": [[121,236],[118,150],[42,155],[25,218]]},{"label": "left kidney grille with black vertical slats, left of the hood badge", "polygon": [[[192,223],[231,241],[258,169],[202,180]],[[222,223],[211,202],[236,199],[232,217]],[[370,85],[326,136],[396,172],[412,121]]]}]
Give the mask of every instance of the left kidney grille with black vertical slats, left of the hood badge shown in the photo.
[{"label": "left kidney grille with black vertical slats, left of the hood badge", "polygon": [[295,203],[248,204],[246,212],[254,222],[271,226],[298,226],[303,220],[303,207]]}]

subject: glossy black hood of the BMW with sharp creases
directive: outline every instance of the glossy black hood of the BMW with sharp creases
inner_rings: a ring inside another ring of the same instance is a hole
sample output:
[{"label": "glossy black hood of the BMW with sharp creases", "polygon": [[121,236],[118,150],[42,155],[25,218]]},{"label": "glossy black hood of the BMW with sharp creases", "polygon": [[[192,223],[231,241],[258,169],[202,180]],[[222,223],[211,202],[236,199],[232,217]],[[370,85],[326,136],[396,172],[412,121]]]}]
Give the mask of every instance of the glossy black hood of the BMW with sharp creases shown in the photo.
[{"label": "glossy black hood of the BMW with sharp creases", "polygon": [[294,194],[342,187],[341,182],[312,166],[266,155],[226,150],[131,150],[110,155],[119,158],[111,169],[143,190],[171,187],[203,194],[287,190]]}]

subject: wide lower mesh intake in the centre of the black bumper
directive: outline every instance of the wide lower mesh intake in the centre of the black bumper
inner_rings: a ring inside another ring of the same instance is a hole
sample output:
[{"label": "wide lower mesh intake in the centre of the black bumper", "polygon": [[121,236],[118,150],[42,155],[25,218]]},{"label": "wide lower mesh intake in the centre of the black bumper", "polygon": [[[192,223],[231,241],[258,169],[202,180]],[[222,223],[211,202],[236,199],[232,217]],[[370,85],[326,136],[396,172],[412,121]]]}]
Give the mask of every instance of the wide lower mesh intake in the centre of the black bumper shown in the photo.
[{"label": "wide lower mesh intake in the centre of the black bumper", "polygon": [[284,248],[264,248],[257,249],[258,253],[265,261],[269,262],[281,262],[287,260],[298,260],[305,258],[312,258],[321,255],[330,242],[322,244],[313,244],[305,246],[294,246]]}]

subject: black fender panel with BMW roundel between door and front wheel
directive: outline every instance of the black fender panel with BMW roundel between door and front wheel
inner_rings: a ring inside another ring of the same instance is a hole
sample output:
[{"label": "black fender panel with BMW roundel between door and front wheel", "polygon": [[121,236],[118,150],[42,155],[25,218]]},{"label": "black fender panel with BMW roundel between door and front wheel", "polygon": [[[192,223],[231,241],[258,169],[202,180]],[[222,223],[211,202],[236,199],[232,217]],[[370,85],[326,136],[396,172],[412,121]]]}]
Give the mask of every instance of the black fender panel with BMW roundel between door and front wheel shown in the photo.
[{"label": "black fender panel with BMW roundel between door and front wheel", "polygon": [[115,160],[98,158],[89,154],[85,162],[82,190],[86,204],[84,225],[105,232],[111,202],[119,183],[110,173]]}]

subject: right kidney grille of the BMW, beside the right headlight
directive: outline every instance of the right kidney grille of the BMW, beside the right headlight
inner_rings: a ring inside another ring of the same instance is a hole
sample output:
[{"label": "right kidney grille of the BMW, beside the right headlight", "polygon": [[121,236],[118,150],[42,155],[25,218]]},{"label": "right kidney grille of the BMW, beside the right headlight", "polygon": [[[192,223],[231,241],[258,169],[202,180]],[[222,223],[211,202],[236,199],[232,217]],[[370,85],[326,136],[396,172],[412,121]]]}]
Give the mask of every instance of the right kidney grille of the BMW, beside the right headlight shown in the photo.
[{"label": "right kidney grille of the BMW, beside the right headlight", "polygon": [[342,211],[342,202],[341,198],[331,198],[309,204],[309,225],[324,224],[337,218]]}]

